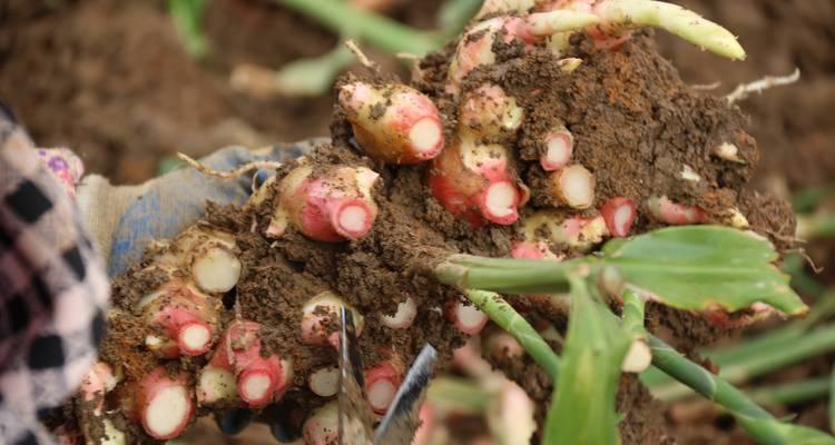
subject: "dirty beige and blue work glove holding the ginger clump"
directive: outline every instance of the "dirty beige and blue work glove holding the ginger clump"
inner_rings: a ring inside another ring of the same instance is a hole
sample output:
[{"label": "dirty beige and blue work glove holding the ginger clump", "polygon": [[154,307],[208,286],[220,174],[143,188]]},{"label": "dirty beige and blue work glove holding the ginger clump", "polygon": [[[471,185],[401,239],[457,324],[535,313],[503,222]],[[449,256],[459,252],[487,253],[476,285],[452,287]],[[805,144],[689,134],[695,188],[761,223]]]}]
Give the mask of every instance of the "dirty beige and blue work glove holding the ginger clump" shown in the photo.
[{"label": "dirty beige and blue work glove holding the ginger clump", "polygon": [[[259,150],[227,147],[200,162],[218,171],[230,171],[255,160],[286,162],[325,141],[308,139]],[[148,243],[171,239],[203,217],[206,201],[243,205],[252,192],[253,179],[263,181],[266,174],[253,171],[225,179],[185,167],[138,186],[112,186],[106,178],[90,175],[78,186],[77,202],[112,278],[138,261]]]}]

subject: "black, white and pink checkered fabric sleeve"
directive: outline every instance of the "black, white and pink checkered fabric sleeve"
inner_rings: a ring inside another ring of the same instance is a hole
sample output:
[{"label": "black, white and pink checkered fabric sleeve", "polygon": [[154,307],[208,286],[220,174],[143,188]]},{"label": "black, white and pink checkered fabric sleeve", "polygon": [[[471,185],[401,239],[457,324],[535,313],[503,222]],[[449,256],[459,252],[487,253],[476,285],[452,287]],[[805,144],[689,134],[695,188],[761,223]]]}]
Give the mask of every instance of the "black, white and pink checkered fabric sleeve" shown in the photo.
[{"label": "black, white and pink checkered fabric sleeve", "polygon": [[94,363],[108,299],[66,185],[0,116],[0,443],[56,442],[39,417]]}]

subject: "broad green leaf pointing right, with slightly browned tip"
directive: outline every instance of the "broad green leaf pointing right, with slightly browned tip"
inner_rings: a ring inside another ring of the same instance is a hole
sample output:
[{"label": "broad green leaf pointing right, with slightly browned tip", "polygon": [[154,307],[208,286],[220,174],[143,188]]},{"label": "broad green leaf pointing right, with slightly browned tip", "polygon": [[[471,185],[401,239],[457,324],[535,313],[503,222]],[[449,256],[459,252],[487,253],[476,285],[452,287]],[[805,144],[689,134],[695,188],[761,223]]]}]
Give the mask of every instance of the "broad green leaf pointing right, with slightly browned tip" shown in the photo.
[{"label": "broad green leaf pointing right, with slightly browned tip", "polygon": [[670,227],[603,249],[605,263],[667,306],[729,312],[762,301],[789,315],[808,310],[773,264],[777,253],[749,231],[720,226]]}]

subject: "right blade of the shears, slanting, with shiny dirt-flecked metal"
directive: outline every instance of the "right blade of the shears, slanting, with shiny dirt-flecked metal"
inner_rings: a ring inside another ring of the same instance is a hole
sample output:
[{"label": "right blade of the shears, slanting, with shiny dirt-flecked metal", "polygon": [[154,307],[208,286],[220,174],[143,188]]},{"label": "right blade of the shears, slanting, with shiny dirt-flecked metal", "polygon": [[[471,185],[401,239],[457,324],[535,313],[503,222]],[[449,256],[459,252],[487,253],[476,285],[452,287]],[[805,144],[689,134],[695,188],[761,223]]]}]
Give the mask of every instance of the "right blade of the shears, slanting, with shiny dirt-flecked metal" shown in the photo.
[{"label": "right blade of the shears, slanting, with shiny dirt-flecked metal", "polygon": [[374,445],[409,445],[420,426],[419,413],[426,395],[429,382],[434,374],[438,352],[432,345],[423,347],[415,358],[406,378],[397,388],[397,394],[385,417],[374,434]]}]

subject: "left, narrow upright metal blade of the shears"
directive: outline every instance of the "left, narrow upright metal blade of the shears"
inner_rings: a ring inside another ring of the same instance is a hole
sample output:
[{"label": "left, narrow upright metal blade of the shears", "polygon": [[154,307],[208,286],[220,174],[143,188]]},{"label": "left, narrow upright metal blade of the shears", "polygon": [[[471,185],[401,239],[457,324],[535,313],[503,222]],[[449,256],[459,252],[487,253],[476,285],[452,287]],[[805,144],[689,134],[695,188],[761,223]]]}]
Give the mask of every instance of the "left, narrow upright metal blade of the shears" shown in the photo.
[{"label": "left, narrow upright metal blade of the shears", "polygon": [[372,443],[374,415],[365,398],[354,314],[342,307],[340,318],[340,444],[366,445]]}]

